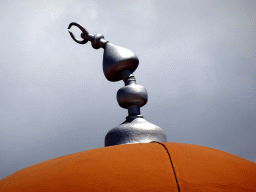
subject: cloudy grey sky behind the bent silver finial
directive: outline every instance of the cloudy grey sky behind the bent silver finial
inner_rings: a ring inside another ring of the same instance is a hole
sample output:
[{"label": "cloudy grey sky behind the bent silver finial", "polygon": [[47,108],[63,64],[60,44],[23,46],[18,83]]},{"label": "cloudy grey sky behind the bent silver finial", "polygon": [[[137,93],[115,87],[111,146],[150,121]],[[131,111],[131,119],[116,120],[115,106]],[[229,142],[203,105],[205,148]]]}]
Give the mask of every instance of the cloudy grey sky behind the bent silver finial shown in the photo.
[{"label": "cloudy grey sky behind the bent silver finial", "polygon": [[[0,2],[0,179],[24,167],[103,147],[122,123],[103,49],[75,43],[70,22],[140,59],[141,108],[168,142],[256,162],[255,1]],[[72,28],[79,35],[79,31]]]}]

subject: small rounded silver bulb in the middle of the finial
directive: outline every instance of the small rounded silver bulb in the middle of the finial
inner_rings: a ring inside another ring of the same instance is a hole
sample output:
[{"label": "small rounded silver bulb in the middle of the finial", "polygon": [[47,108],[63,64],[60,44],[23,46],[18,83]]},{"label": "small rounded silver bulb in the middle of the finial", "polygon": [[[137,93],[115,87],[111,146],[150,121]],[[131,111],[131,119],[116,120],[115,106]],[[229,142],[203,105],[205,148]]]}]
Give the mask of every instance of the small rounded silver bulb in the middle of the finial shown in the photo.
[{"label": "small rounded silver bulb in the middle of the finial", "polygon": [[148,101],[148,93],[147,90],[141,85],[127,85],[118,90],[117,101],[120,107],[125,109],[128,109],[128,107],[132,105],[142,107]]}]

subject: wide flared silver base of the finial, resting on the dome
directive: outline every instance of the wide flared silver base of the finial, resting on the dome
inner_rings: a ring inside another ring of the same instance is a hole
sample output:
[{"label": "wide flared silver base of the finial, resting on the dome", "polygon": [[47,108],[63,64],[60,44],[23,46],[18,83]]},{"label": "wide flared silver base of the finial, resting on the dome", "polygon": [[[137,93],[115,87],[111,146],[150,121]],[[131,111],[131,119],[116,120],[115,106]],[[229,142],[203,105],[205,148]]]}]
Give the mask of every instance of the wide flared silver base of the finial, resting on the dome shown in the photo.
[{"label": "wide flared silver base of the finial, resting on the dome", "polygon": [[105,137],[105,146],[150,143],[152,141],[166,142],[164,131],[139,116],[128,116],[121,125],[111,129]]}]

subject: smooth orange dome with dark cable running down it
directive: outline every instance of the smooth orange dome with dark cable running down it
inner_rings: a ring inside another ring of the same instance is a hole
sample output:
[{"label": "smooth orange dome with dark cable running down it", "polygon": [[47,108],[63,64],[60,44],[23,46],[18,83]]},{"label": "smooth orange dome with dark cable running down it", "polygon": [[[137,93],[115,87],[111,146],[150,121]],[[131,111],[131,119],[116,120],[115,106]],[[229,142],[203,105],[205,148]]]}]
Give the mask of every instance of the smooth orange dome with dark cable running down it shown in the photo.
[{"label": "smooth orange dome with dark cable running down it", "polygon": [[0,191],[256,191],[256,164],[180,143],[87,150],[22,169]]}]

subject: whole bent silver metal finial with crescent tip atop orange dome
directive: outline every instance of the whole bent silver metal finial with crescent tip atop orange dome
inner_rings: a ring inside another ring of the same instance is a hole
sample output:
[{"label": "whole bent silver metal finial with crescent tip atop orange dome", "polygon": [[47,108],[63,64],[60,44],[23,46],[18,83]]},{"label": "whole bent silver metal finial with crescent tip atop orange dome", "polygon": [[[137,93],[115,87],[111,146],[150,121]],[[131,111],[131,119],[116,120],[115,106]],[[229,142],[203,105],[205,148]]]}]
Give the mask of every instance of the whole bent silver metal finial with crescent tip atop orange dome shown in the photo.
[{"label": "whole bent silver metal finial with crescent tip atop orange dome", "polygon": [[123,80],[125,86],[117,92],[117,101],[120,107],[128,109],[126,121],[111,129],[105,137],[105,146],[129,144],[129,143],[149,143],[152,141],[166,142],[164,131],[146,121],[140,113],[140,107],[144,106],[148,100],[146,89],[136,84],[136,79],[132,74],[139,65],[138,57],[130,50],[113,45],[104,39],[101,34],[92,35],[88,33],[80,24],[72,22],[72,26],[78,27],[82,33],[79,40],[69,31],[72,39],[85,44],[91,41],[94,49],[103,48],[103,72],[109,81]]}]

